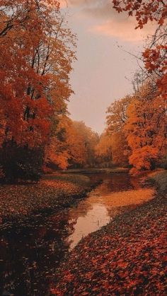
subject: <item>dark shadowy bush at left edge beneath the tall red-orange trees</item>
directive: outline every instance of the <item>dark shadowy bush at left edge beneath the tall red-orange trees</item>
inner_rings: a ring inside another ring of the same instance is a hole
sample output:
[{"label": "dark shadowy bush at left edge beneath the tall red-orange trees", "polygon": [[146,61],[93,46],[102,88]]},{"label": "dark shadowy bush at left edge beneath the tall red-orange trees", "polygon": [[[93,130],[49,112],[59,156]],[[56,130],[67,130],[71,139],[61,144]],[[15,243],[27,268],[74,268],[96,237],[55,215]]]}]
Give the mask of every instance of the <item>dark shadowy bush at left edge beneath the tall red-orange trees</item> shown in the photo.
[{"label": "dark shadowy bush at left edge beneath the tall red-orange trees", "polygon": [[6,182],[30,180],[38,182],[42,174],[43,148],[28,148],[13,142],[4,143],[0,150],[0,164]]}]

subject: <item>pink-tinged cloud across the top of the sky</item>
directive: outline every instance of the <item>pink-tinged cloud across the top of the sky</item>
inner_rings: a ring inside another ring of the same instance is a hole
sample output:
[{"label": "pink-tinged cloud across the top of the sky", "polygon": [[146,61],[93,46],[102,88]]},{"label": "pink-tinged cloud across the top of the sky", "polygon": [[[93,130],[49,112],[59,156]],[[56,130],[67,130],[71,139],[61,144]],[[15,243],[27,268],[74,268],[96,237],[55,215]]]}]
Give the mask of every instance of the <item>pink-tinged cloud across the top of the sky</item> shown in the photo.
[{"label": "pink-tinged cloud across the top of the sky", "polygon": [[[142,30],[135,30],[137,20],[128,17],[127,13],[117,13],[110,0],[61,0],[63,7],[78,6],[80,9],[75,18],[85,18],[85,23],[95,20],[96,25],[88,28],[88,32],[108,37],[117,37],[128,42],[141,42],[147,35],[154,34],[155,26],[149,23]],[[60,1],[60,2],[61,2]],[[86,20],[87,19],[87,20]]]}]

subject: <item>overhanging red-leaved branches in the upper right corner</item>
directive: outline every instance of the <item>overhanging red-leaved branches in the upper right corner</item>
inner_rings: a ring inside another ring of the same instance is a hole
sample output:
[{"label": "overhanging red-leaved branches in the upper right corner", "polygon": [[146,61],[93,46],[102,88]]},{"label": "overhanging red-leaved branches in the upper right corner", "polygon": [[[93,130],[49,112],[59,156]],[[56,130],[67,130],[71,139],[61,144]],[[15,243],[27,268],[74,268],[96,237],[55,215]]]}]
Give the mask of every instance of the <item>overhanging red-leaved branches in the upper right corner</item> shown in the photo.
[{"label": "overhanging red-leaved branches in the upper right corner", "polygon": [[166,59],[166,1],[159,0],[113,0],[113,8],[118,13],[127,11],[129,16],[135,16],[137,28],[142,29],[149,21],[157,25],[154,35],[149,38],[149,44],[143,52],[143,61],[148,73],[156,75],[159,93],[166,96],[167,85],[167,59]]}]

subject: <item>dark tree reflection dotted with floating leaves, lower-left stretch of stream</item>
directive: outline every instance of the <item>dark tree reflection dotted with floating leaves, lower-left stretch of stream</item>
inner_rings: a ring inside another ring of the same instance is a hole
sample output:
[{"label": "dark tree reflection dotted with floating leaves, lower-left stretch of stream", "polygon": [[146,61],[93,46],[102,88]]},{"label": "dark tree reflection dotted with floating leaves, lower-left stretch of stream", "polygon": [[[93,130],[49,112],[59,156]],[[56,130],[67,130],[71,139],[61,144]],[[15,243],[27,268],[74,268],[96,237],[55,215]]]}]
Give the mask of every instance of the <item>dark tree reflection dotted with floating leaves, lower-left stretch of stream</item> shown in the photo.
[{"label": "dark tree reflection dotted with floating leaves, lower-left stretch of stream", "polygon": [[[32,222],[30,222],[32,223]],[[11,229],[0,240],[0,295],[50,295],[59,262],[68,254],[67,237],[74,230],[68,211],[22,229]]]}]

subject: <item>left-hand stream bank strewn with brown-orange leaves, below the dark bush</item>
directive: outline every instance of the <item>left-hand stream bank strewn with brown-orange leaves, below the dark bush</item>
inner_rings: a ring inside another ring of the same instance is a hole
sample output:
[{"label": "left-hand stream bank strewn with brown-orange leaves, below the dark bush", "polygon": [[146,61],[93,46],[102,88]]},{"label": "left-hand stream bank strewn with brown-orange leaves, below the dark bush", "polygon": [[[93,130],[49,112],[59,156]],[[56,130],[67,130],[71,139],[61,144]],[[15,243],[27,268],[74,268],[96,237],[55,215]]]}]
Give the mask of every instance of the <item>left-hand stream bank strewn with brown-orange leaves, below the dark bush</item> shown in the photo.
[{"label": "left-hand stream bank strewn with brown-orange leaves, below the dark bush", "polygon": [[45,175],[38,184],[0,186],[0,229],[34,215],[68,208],[84,198],[99,181],[82,174]]}]

